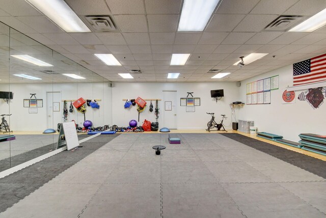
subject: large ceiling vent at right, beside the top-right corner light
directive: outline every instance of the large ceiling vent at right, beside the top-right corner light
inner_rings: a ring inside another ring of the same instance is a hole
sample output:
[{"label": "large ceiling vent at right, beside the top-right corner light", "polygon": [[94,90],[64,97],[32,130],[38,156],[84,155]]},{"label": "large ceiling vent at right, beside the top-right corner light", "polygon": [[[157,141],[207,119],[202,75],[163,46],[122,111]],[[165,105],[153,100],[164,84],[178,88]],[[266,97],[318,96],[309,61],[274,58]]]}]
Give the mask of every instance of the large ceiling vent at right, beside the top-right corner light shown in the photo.
[{"label": "large ceiling vent at right, beside the top-right corner light", "polygon": [[281,15],[269,23],[264,31],[285,32],[297,24],[298,21],[302,21],[303,18],[303,16],[299,15]]}]

